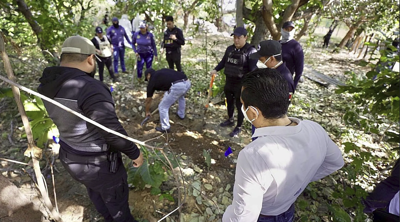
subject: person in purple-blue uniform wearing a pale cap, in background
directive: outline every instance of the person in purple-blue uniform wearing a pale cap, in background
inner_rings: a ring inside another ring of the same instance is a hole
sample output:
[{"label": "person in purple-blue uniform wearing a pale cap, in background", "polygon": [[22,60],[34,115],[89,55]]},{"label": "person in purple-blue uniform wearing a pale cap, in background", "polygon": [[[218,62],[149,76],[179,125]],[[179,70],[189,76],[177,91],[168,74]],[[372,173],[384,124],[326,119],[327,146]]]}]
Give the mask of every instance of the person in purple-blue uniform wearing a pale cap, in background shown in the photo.
[{"label": "person in purple-blue uniform wearing a pale cap, in background", "polygon": [[157,61],[157,48],[153,33],[147,31],[147,24],[142,21],[139,27],[139,32],[135,32],[132,36],[132,48],[138,58],[138,78],[142,78],[144,63],[146,63],[146,69],[149,69],[153,64],[154,56]]}]

